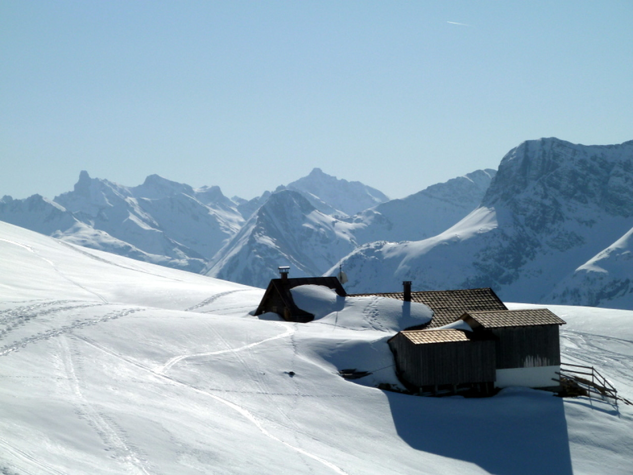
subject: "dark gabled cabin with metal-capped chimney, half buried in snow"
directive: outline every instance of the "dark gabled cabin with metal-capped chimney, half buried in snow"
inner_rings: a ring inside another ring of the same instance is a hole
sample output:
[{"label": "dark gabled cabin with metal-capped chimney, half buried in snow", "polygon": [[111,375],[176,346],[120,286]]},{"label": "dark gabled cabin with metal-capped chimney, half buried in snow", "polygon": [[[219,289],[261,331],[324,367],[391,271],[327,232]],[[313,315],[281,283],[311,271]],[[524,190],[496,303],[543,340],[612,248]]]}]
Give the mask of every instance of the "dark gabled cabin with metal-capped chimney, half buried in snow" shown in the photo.
[{"label": "dark gabled cabin with metal-capped chimney, half buried in snow", "polygon": [[268,288],[261,298],[260,305],[255,310],[255,315],[265,312],[273,312],[289,322],[307,323],[314,320],[315,316],[299,307],[292,299],[291,289],[308,284],[325,286],[334,290],[337,295],[346,296],[345,289],[336,277],[288,277],[289,267],[280,267],[279,279],[271,279]]}]

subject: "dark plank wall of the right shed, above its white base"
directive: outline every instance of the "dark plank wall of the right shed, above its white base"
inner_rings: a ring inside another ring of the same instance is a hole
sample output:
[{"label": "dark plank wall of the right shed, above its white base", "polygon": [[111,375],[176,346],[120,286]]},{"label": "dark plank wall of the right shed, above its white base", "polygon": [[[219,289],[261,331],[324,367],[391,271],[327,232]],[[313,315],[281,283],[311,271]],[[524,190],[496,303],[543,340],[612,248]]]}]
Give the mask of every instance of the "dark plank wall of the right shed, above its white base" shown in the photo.
[{"label": "dark plank wall of the right shed, above its white base", "polygon": [[494,328],[498,369],[560,365],[558,325]]}]

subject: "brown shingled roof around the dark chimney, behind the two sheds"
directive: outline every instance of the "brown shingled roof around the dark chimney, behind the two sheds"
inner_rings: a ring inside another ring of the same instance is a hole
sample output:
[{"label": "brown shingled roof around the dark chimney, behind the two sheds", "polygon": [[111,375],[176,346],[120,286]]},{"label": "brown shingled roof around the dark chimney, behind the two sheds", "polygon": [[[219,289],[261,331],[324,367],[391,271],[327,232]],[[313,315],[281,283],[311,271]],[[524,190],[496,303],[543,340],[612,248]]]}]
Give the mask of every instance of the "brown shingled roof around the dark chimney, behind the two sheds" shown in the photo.
[{"label": "brown shingled roof around the dark chimney, behind the two sheds", "polygon": [[[403,292],[376,293],[377,295],[404,300]],[[508,310],[491,288],[458,289],[411,292],[411,301],[424,303],[433,310],[433,319],[427,328],[436,328],[459,320],[465,312],[480,310]]]}]

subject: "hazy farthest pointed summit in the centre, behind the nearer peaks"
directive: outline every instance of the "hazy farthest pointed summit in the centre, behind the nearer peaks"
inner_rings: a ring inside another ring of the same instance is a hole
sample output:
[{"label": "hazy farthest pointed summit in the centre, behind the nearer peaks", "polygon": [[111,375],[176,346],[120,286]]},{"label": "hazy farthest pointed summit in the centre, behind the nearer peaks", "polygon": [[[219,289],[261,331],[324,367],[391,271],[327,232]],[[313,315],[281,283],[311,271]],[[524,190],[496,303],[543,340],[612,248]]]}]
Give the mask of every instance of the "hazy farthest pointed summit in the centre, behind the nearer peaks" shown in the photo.
[{"label": "hazy farthest pointed summit in the centre, behind the nearer peaks", "polygon": [[321,168],[314,168],[308,176],[293,181],[286,187],[315,196],[347,215],[353,215],[389,200],[375,188],[360,181],[337,179],[323,173]]}]

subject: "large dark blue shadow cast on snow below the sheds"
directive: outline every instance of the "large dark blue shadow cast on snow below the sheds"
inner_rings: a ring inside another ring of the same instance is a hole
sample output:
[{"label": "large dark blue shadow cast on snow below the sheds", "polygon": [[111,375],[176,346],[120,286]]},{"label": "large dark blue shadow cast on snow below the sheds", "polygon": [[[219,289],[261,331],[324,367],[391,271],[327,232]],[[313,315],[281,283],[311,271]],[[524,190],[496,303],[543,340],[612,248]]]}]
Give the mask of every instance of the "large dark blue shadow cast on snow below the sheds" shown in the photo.
[{"label": "large dark blue shadow cast on snow below the sheds", "polygon": [[563,400],[551,393],[511,388],[492,398],[385,395],[398,435],[417,450],[492,474],[572,474]]}]

